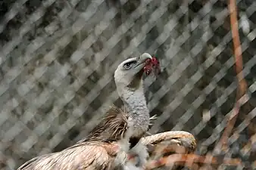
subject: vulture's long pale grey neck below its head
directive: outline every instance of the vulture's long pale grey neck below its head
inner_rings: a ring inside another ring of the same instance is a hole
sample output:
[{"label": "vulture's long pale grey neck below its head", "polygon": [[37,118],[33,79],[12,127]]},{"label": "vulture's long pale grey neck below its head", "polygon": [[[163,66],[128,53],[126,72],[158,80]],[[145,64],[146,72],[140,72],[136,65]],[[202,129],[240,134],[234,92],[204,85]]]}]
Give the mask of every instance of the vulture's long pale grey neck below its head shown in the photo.
[{"label": "vulture's long pale grey neck below its head", "polygon": [[149,111],[145,100],[143,87],[131,91],[129,88],[123,91],[121,96],[125,111],[133,122],[133,136],[140,136],[148,130]]}]

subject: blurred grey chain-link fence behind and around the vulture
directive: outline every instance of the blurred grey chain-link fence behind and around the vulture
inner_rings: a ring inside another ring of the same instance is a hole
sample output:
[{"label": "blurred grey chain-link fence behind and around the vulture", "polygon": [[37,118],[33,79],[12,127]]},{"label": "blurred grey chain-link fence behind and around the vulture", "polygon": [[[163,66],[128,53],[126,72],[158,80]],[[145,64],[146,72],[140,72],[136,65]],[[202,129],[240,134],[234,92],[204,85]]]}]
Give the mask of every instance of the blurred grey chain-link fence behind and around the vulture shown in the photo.
[{"label": "blurred grey chain-link fence behind and around the vulture", "polygon": [[[86,137],[111,104],[114,70],[148,52],[150,132],[185,130],[211,152],[236,102],[226,0],[3,0],[0,2],[0,168],[63,150]],[[256,2],[237,0],[248,100],[227,157],[256,162]],[[241,168],[241,167],[240,167]],[[219,169],[222,169],[219,167]],[[236,169],[236,167],[232,168]]]}]

